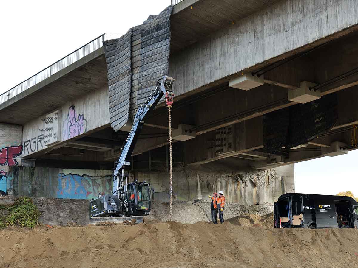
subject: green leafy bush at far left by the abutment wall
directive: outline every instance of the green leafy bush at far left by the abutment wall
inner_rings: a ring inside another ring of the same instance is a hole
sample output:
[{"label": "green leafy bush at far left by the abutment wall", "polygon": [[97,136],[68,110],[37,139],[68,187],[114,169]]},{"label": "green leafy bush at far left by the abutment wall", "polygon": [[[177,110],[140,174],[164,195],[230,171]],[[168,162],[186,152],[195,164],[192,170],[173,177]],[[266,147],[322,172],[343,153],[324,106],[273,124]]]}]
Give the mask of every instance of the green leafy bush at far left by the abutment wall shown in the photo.
[{"label": "green leafy bush at far left by the abutment wall", "polygon": [[30,197],[20,197],[13,204],[0,205],[0,210],[9,211],[0,218],[0,228],[3,229],[10,225],[35,227],[41,214]]}]

